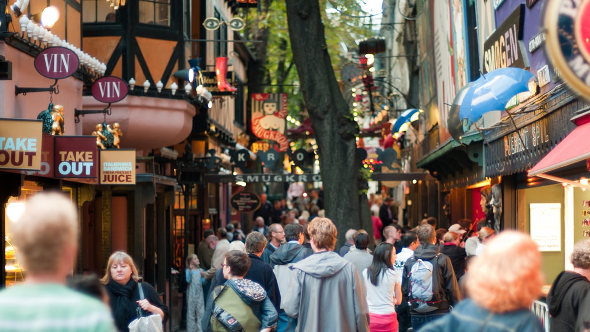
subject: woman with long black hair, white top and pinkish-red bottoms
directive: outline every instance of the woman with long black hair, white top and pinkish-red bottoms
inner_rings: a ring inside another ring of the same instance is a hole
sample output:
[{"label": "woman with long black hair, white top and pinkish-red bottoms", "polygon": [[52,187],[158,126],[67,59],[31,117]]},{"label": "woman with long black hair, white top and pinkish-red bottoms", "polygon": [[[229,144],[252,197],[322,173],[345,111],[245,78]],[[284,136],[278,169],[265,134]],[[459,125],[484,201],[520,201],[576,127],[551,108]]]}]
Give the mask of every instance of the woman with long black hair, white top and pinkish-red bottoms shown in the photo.
[{"label": "woman with long black hair, white top and pinkish-red bottoms", "polygon": [[375,248],[373,263],[363,271],[371,332],[396,332],[395,305],[402,302],[401,276],[394,270],[395,248],[382,242]]}]

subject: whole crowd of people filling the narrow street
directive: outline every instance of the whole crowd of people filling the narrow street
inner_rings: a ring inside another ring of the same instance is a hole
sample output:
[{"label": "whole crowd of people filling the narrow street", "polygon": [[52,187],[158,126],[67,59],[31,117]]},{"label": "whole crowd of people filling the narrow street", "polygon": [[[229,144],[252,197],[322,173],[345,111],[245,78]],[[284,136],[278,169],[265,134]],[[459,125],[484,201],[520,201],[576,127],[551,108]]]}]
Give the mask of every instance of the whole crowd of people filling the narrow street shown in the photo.
[{"label": "whole crowd of people filling the narrow street", "polygon": [[[349,229],[336,248],[326,217],[284,227],[257,218],[247,236],[207,230],[186,258],[187,331],[545,331],[530,310],[540,253],[525,233],[496,235],[484,222],[437,229],[431,217],[413,229],[388,224],[382,241]],[[78,222],[61,194],[32,197],[12,232],[28,273],[0,292],[0,330],[129,331],[142,317],[168,319],[125,252],[112,253],[101,279],[67,278]],[[552,331],[590,327],[590,240],[576,243],[571,263],[547,297]]]}]

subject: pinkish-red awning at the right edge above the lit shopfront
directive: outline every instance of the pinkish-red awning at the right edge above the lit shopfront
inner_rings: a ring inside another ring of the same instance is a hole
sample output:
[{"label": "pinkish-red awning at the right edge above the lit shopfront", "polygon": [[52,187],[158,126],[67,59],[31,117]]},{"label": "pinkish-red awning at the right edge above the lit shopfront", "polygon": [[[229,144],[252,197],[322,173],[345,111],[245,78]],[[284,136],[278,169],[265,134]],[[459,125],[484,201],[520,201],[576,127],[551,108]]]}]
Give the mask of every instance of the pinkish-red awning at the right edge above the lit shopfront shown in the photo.
[{"label": "pinkish-red awning at the right edge above the lit shopfront", "polygon": [[566,138],[553,148],[535,167],[529,170],[529,177],[543,174],[578,161],[590,158],[590,122],[573,129]]}]

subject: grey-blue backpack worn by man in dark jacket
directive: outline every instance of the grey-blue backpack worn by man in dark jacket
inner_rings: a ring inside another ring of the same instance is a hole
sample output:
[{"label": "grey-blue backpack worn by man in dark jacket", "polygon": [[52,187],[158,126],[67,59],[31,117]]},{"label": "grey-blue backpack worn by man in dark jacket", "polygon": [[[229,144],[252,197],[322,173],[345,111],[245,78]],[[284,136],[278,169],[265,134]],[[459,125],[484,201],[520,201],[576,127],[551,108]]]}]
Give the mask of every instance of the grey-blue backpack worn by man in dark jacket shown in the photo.
[{"label": "grey-blue backpack worn by man in dark jacket", "polygon": [[409,307],[417,313],[430,313],[440,308],[442,302],[437,271],[437,253],[430,261],[415,259],[409,277]]}]

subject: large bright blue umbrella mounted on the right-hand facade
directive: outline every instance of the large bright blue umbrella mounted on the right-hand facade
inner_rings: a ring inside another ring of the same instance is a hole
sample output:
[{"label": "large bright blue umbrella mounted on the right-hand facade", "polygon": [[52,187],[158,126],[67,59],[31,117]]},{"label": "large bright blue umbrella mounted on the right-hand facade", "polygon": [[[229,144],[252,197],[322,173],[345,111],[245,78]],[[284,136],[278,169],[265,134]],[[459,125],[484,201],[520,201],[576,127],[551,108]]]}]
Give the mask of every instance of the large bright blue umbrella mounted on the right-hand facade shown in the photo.
[{"label": "large bright blue umbrella mounted on the right-hand facade", "polygon": [[500,68],[471,82],[459,108],[459,119],[476,122],[493,110],[504,110],[506,103],[521,92],[529,91],[529,80],[535,77],[520,68]]}]

